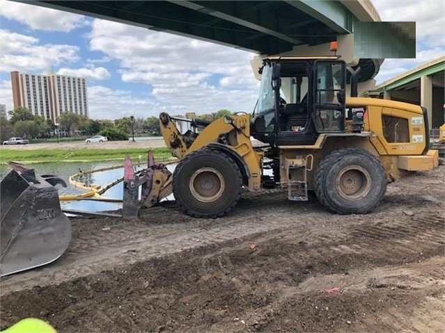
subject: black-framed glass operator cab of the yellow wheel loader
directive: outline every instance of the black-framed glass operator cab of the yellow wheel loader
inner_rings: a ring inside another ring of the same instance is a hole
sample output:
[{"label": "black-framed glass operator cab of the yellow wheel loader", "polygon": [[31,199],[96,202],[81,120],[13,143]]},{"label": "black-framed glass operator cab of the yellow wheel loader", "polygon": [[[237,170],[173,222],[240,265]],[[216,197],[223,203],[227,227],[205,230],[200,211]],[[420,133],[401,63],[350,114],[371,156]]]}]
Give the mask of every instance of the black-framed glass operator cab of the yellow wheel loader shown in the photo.
[{"label": "black-framed glass operator cab of the yellow wheel loader", "polygon": [[345,129],[345,63],[338,58],[266,59],[251,134],[272,146],[313,145]]}]

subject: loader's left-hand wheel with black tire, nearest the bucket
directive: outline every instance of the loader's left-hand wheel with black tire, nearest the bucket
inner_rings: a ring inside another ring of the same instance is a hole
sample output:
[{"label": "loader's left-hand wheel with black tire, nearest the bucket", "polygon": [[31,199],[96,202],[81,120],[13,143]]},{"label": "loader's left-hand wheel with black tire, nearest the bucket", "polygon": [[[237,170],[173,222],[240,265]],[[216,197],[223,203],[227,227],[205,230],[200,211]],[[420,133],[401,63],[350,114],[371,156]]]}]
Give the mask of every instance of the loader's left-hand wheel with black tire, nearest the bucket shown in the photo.
[{"label": "loader's left-hand wheel with black tire, nearest the bucket", "polygon": [[230,156],[199,149],[185,156],[173,172],[173,195],[180,209],[196,218],[218,218],[241,197],[242,174]]}]

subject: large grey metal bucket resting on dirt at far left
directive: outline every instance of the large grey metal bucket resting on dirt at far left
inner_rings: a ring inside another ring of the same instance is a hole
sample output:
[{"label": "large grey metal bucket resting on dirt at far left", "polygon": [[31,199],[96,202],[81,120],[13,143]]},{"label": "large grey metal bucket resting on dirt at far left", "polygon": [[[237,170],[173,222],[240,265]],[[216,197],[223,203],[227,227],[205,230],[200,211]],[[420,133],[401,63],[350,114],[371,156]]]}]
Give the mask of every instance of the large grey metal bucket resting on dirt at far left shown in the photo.
[{"label": "large grey metal bucket resting on dirt at far left", "polygon": [[9,164],[13,170],[0,183],[0,276],[51,263],[71,240],[70,220],[54,187],[66,187],[65,181]]}]

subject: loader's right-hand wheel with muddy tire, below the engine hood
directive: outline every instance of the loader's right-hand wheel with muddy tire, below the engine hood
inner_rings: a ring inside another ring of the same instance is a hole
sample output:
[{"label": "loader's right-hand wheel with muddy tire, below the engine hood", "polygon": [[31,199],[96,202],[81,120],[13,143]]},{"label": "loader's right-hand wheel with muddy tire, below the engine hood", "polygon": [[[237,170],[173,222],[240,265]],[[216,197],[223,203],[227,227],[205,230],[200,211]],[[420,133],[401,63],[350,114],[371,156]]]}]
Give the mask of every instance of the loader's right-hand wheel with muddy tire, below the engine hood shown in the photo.
[{"label": "loader's right-hand wheel with muddy tire, below the engine hood", "polygon": [[380,204],[387,190],[382,163],[366,150],[339,149],[325,156],[314,175],[318,200],[339,214],[364,214]]}]

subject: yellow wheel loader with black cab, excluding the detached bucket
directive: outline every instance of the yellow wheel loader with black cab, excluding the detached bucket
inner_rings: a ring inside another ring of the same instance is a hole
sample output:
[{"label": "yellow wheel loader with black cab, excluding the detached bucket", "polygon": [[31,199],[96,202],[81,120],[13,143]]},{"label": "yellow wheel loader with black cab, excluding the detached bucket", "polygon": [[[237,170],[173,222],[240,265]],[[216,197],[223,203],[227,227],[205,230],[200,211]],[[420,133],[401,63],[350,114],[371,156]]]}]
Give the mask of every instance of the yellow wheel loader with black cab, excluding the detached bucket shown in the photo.
[{"label": "yellow wheel loader with black cab, excluding the detached bucket", "polygon": [[[313,191],[334,213],[368,213],[389,182],[437,167],[426,109],[357,97],[359,70],[346,97],[347,69],[338,56],[270,57],[260,74],[252,117],[188,120],[196,130],[180,133],[177,118],[159,115],[166,145],[180,159],[161,187],[173,191],[185,213],[224,216],[242,188],[287,188],[295,201]],[[253,147],[251,137],[263,147]]]}]

